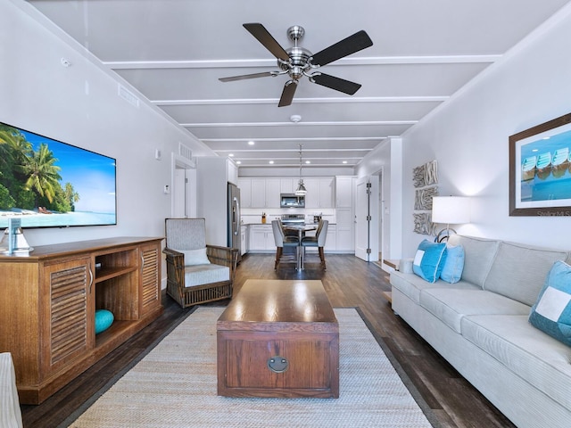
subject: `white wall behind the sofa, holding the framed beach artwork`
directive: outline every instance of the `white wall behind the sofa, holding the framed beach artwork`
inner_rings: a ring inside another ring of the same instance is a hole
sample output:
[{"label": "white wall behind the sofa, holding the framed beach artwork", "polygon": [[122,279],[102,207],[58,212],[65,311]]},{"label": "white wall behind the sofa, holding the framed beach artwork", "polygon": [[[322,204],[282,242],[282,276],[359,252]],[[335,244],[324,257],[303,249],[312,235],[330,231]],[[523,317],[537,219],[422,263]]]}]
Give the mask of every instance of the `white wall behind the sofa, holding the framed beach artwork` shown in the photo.
[{"label": "white wall behind the sofa, holding the framed beach artwork", "polygon": [[509,136],[571,111],[569,40],[567,6],[402,136],[402,257],[426,237],[412,232],[412,169],[434,159],[441,195],[474,196],[459,233],[571,249],[571,218],[509,217],[508,178]]}]

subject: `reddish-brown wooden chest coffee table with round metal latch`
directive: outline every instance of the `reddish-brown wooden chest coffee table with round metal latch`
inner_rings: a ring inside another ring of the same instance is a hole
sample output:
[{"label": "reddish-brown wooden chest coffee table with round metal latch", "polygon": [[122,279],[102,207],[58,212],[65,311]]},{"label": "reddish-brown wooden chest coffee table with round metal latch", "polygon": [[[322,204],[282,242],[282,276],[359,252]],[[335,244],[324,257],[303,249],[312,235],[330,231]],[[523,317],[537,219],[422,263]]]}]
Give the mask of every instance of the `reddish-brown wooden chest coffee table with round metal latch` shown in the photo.
[{"label": "reddish-brown wooden chest coffee table with round metal latch", "polygon": [[246,281],[217,346],[218,395],[339,397],[339,325],[321,281]]}]

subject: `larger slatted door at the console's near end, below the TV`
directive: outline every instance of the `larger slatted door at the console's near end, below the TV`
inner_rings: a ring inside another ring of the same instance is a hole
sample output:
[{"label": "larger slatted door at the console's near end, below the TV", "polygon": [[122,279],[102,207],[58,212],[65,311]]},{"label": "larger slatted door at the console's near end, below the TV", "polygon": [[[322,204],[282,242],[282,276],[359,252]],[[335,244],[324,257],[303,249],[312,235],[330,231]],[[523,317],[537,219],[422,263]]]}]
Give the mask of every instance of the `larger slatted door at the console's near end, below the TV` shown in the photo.
[{"label": "larger slatted door at the console's near end, below the TV", "polygon": [[91,259],[81,258],[44,267],[46,317],[42,350],[45,373],[57,370],[93,347],[94,310]]}]

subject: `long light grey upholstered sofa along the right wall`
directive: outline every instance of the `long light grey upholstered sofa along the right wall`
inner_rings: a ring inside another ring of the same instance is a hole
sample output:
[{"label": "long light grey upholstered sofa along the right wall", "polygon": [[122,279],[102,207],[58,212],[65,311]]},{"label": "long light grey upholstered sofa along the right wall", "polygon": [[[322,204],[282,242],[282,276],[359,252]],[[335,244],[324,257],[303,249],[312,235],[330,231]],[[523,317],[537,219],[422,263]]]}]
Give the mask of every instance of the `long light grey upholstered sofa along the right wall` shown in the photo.
[{"label": "long light grey upholstered sofa along the right wall", "polygon": [[519,427],[571,426],[571,347],[528,322],[553,263],[571,252],[452,235],[459,283],[391,274],[393,310]]}]

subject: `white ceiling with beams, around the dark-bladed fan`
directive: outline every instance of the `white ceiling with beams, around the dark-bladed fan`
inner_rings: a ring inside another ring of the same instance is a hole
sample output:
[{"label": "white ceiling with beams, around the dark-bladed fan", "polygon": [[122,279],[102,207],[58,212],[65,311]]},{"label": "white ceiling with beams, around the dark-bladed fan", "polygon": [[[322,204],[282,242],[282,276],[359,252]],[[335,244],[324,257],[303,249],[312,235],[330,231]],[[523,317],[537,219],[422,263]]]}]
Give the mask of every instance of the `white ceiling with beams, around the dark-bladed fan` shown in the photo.
[{"label": "white ceiling with beams, around the dark-bladed fan", "polygon": [[[501,59],[564,0],[30,0],[104,66],[219,155],[242,166],[356,165],[401,136]],[[323,72],[360,83],[355,95],[302,78],[277,107],[287,76],[242,24],[261,22],[284,48],[286,30],[317,53],[364,29],[373,45]],[[299,123],[292,115],[302,116]],[[248,145],[249,141],[255,142]],[[347,162],[343,164],[343,161]]]}]

